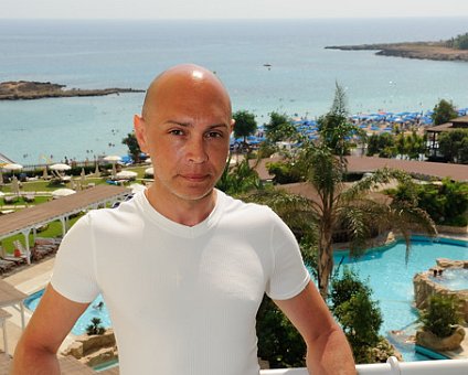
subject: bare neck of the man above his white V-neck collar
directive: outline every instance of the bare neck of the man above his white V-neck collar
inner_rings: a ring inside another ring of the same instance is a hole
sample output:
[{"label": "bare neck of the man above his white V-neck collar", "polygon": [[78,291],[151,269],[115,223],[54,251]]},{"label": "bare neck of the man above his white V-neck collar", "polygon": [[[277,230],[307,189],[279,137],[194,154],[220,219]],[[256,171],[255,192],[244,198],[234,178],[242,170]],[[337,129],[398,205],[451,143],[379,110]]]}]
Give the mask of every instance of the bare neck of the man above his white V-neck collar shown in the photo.
[{"label": "bare neck of the man above his white V-neck collar", "polygon": [[145,193],[149,203],[158,213],[172,222],[187,226],[195,226],[203,222],[210,216],[216,204],[215,190],[212,190],[206,196],[193,201],[173,194],[161,199],[156,185],[148,188]]}]

